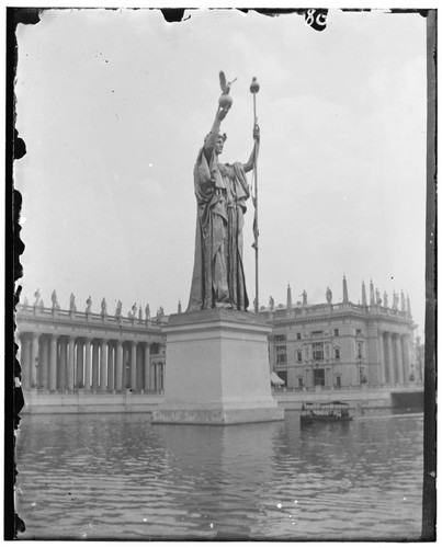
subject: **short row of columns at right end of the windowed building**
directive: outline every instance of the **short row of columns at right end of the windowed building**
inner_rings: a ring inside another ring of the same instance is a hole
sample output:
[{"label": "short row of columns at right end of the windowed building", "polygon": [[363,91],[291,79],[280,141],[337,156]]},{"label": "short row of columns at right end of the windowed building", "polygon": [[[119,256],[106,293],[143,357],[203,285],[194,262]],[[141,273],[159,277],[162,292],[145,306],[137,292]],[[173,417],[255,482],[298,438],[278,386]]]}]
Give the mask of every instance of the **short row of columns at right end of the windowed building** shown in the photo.
[{"label": "short row of columns at right end of the windowed building", "polygon": [[408,383],[410,376],[409,336],[384,332],[379,340],[382,384]]}]

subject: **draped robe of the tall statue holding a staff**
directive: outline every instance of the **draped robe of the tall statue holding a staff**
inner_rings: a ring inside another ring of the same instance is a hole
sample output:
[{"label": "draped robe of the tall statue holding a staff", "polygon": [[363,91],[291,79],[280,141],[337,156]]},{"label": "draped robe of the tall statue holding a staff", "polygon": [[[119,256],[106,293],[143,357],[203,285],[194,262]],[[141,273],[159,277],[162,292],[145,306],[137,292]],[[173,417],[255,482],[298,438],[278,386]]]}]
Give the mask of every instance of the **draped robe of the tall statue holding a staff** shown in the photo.
[{"label": "draped robe of the tall statue holding a staff", "polygon": [[202,148],[194,168],[197,205],[195,260],[188,311],[247,310],[242,226],[249,197],[243,165],[218,163]]}]

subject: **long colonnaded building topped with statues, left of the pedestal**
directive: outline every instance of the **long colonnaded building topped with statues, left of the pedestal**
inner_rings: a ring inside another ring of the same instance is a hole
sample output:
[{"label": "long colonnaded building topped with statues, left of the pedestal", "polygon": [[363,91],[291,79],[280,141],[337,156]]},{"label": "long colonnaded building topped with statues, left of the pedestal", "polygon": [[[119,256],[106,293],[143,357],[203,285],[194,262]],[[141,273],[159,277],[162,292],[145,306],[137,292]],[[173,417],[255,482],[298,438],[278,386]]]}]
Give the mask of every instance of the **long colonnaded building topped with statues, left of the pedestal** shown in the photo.
[{"label": "long colonnaded building topped with statues, left of the pedestal", "polygon": [[78,312],[71,301],[61,310],[56,299],[45,308],[39,296],[16,312],[19,361],[24,390],[133,391],[163,389],[165,317]]}]

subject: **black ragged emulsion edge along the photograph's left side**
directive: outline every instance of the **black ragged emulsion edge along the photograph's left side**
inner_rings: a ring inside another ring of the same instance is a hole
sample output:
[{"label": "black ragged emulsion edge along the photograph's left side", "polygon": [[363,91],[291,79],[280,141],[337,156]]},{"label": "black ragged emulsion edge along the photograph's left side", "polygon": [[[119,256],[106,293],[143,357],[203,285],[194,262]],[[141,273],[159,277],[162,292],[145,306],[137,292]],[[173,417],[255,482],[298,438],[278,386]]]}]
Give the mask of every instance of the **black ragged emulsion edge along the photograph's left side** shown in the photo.
[{"label": "black ragged emulsion edge along the photograph's left side", "polygon": [[[15,463],[15,444],[20,412],[24,407],[21,388],[22,372],[15,343],[15,307],[22,290],[18,281],[23,276],[20,255],[24,252],[21,240],[20,214],[22,195],[14,189],[13,165],[26,153],[24,140],[15,129],[14,84],[18,66],[16,27],[19,23],[36,24],[41,10],[36,8],[7,8],[7,93],[5,93],[5,284],[4,284],[4,510],[3,538],[14,540],[25,530],[25,524],[15,509],[15,487],[19,475]],[[16,284],[16,286],[15,286]],[[13,364],[12,367],[8,366]]]}]

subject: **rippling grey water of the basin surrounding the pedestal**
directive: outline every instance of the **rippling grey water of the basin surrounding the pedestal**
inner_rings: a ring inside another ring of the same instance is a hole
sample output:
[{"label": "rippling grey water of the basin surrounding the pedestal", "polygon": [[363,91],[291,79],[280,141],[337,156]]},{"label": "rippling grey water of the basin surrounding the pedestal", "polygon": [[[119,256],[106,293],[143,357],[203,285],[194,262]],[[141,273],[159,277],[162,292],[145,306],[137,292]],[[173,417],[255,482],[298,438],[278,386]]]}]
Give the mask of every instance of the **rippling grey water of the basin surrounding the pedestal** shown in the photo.
[{"label": "rippling grey water of the basin surrounding the pedestal", "polygon": [[423,415],[151,425],[25,415],[21,539],[418,539]]}]

